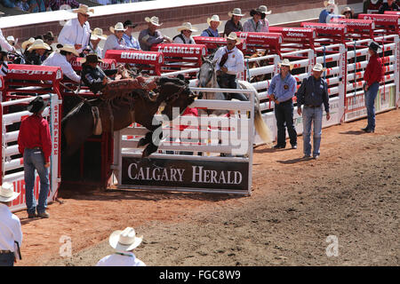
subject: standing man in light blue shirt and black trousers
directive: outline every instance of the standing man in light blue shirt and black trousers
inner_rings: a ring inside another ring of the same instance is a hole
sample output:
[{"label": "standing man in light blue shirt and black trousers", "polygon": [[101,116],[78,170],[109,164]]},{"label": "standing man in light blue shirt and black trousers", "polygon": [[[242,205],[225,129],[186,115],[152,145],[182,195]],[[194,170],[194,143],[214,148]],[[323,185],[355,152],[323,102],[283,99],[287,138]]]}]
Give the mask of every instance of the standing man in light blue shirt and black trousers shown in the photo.
[{"label": "standing man in light blue shirt and black trousers", "polygon": [[268,88],[269,100],[275,103],[277,138],[274,149],[286,147],[286,130],[289,133],[292,149],[297,148],[297,132],[293,124],[293,97],[296,92],[296,79],[291,74],[292,64],[289,59],[279,63],[279,74],[275,75]]}]

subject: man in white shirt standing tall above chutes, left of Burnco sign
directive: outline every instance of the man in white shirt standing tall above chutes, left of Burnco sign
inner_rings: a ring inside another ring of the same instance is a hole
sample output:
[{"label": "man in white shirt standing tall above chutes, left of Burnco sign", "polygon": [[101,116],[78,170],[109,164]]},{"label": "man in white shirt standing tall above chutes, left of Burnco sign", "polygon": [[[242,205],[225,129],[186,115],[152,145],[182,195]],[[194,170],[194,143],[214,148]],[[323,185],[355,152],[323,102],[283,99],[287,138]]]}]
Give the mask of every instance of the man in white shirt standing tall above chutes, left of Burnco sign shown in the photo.
[{"label": "man in white shirt standing tall above chutes, left of Burnco sign", "polygon": [[87,20],[90,16],[89,12],[93,12],[93,9],[79,4],[79,8],[73,12],[77,13],[77,18],[68,20],[61,29],[58,39],[59,43],[73,45],[78,53],[82,53],[84,47],[89,45],[91,26]]}]

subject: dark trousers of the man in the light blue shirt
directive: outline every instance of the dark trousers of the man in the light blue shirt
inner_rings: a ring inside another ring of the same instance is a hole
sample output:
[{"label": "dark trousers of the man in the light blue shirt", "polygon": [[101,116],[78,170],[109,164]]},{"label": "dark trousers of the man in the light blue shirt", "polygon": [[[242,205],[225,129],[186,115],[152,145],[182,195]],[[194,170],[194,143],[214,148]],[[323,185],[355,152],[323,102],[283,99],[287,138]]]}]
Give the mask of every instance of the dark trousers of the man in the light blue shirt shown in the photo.
[{"label": "dark trousers of the man in the light blue shirt", "polygon": [[276,145],[286,146],[286,130],[289,134],[291,145],[297,145],[297,132],[293,124],[292,100],[275,105],[275,117],[277,127]]}]

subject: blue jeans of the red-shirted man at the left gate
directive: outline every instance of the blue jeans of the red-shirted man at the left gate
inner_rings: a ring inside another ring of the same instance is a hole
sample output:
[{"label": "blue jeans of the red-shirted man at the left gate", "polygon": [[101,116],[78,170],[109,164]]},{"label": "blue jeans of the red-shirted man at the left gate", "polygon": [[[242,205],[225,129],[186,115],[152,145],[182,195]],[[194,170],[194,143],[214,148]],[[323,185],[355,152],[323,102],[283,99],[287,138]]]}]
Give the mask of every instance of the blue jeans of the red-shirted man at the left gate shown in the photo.
[{"label": "blue jeans of the red-shirted man at the left gate", "polygon": [[44,155],[42,150],[25,149],[24,174],[25,174],[25,199],[28,214],[35,214],[36,199],[34,196],[35,170],[40,177],[39,201],[37,213],[43,213],[47,207],[47,195],[49,193],[49,176],[47,168],[44,168]]}]

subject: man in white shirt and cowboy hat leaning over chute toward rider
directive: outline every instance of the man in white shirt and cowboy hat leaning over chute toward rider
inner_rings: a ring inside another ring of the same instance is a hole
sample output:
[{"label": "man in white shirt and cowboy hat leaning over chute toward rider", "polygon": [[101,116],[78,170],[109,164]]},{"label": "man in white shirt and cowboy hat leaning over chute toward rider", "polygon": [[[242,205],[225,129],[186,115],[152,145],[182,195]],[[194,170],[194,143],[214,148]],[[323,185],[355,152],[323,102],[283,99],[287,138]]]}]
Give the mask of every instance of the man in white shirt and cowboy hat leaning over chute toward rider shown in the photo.
[{"label": "man in white shirt and cowboy hat leaning over chute toward rider", "polygon": [[59,66],[61,67],[62,74],[65,75],[68,79],[79,83],[81,81],[81,77],[76,75],[74,69],[71,66],[71,60],[75,59],[75,57],[79,56],[79,53],[76,51],[73,45],[70,44],[58,44],[58,51],[52,52],[47,59],[44,60],[44,66]]}]

